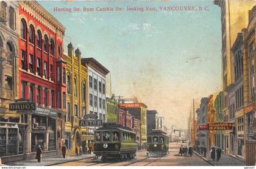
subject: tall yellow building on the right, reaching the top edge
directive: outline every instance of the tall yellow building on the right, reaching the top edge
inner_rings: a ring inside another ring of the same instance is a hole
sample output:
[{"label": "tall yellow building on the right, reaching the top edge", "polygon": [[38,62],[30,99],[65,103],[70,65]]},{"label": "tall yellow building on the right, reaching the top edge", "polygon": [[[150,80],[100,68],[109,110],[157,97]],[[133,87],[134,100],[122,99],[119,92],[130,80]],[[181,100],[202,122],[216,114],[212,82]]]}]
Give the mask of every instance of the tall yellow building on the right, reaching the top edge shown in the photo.
[{"label": "tall yellow building on the right, reaching the top edge", "polygon": [[[224,121],[236,123],[234,66],[231,47],[235,43],[237,33],[248,25],[248,11],[255,5],[255,0],[232,1],[215,0],[214,4],[221,7],[222,31],[222,87],[224,91]],[[246,91],[247,92],[247,91]],[[238,112],[240,114],[240,112]],[[235,126],[234,126],[235,127]],[[235,129],[235,128],[234,128]],[[237,155],[235,133],[225,131],[224,153]]]}]

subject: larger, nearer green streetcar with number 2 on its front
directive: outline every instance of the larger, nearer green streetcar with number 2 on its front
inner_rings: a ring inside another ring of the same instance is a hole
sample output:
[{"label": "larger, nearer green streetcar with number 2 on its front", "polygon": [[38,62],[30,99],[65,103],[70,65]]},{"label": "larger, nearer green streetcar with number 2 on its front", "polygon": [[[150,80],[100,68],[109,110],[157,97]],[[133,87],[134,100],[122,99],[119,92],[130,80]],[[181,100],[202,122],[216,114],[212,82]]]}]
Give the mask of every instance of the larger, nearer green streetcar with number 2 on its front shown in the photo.
[{"label": "larger, nearer green streetcar with number 2 on its front", "polygon": [[115,123],[103,123],[94,131],[94,154],[102,160],[130,160],[136,156],[136,133]]}]

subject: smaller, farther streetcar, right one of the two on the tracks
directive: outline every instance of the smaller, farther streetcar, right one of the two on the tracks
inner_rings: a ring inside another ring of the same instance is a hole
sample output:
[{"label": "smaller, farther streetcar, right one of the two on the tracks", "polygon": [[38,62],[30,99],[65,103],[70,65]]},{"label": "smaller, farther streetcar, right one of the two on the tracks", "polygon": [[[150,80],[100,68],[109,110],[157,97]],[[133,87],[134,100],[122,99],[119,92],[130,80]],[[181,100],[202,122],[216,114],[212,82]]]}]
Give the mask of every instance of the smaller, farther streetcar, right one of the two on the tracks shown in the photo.
[{"label": "smaller, farther streetcar, right one of the two on the tracks", "polygon": [[162,157],[168,153],[169,137],[162,130],[152,129],[147,136],[148,157]]}]

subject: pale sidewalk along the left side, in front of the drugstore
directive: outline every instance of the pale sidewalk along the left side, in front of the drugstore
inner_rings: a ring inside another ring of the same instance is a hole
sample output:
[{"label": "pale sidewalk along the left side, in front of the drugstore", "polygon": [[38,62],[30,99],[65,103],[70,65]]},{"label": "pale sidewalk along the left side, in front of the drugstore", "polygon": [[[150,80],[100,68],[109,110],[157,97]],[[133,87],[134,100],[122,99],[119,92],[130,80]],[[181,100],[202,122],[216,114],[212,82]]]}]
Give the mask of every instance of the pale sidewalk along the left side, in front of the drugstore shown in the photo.
[{"label": "pale sidewalk along the left side, in front of the drugstore", "polygon": [[75,160],[81,160],[81,159],[88,159],[90,157],[93,157],[94,154],[83,154],[82,156],[66,156],[65,159],[63,159],[62,155],[59,156],[49,156],[49,157],[43,157],[41,158],[41,162],[37,162],[37,159],[30,159],[30,160],[20,160],[16,162],[9,162],[5,163],[4,165],[11,165],[11,166],[47,166],[47,165],[56,165],[56,164],[62,164],[65,162],[71,162]]}]

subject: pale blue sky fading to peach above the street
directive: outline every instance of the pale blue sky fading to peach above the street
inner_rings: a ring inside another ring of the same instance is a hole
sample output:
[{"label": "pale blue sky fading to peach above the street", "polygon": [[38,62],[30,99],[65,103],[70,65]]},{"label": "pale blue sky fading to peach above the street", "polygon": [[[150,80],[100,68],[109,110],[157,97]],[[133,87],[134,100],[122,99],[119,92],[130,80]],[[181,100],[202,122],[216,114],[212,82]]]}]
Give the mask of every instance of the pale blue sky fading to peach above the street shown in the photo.
[{"label": "pale blue sky fading to peach above the street", "polygon": [[[212,1],[39,1],[66,27],[82,57],[94,57],[112,77],[112,92],[136,96],[187,128],[192,98],[221,90],[221,16]],[[160,11],[160,6],[202,6],[208,11]],[[130,12],[127,7],[155,7]],[[54,12],[54,7],[122,7],[121,12]]]}]

